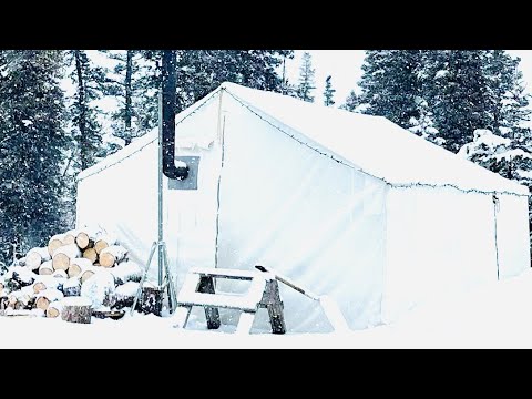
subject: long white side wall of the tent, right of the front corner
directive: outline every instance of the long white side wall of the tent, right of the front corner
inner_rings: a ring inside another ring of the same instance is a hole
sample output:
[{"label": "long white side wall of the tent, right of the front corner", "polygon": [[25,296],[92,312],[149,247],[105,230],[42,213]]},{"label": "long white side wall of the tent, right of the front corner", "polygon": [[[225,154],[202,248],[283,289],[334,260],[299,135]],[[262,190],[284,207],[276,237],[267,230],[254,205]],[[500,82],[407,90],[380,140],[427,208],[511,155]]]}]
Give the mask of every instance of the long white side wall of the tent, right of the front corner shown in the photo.
[{"label": "long white side wall of the tent, right of the front corner", "polygon": [[[515,275],[530,265],[526,197],[504,195],[495,249],[491,195],[453,188],[390,190],[382,315],[387,323],[417,304]],[[499,258],[499,266],[498,266]]]}]

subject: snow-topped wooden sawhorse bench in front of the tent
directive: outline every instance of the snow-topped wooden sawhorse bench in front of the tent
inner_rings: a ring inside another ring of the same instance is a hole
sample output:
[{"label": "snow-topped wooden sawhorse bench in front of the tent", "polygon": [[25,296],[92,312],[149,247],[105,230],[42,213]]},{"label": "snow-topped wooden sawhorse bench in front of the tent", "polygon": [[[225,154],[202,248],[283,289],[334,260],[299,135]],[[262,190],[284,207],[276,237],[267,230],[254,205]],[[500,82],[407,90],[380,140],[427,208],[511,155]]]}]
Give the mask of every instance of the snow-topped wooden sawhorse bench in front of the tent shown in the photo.
[{"label": "snow-topped wooden sawhorse bench in front of the tent", "polygon": [[[250,286],[245,295],[216,294],[214,278],[247,280],[250,282]],[[272,332],[286,332],[279,287],[275,276],[270,273],[206,267],[191,268],[177,296],[174,327],[186,327],[193,306],[202,306],[205,309],[208,329],[219,328],[218,308],[237,309],[242,313],[236,332],[249,334],[255,314],[259,308],[266,308]]]}]

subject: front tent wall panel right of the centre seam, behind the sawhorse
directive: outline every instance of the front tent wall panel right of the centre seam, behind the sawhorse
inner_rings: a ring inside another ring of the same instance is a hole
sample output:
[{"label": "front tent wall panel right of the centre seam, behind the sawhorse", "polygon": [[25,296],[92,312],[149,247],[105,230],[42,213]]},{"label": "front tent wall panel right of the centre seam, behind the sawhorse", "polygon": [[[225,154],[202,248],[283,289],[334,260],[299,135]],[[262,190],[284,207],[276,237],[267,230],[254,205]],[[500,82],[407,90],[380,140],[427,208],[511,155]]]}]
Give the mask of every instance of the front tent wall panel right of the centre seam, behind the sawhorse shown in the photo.
[{"label": "front tent wall panel right of the centre seam, behind the sawhorse", "polygon": [[[269,266],[335,298],[351,328],[380,323],[385,184],[225,94],[224,103],[218,267]],[[289,330],[328,328],[316,303],[285,287],[282,295]]]}]

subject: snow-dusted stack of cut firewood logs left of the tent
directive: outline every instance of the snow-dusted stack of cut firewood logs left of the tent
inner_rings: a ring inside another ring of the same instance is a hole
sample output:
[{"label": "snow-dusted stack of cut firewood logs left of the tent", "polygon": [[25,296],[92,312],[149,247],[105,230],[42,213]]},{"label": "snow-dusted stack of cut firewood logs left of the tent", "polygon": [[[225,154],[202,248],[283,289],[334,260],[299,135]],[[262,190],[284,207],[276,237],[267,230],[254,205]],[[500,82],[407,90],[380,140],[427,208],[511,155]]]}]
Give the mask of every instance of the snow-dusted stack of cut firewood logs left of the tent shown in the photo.
[{"label": "snow-dusted stack of cut firewood logs left of the tent", "polygon": [[0,311],[69,319],[79,306],[86,318],[88,306],[131,307],[141,278],[141,267],[116,238],[100,229],[69,231],[30,249],[0,277]]}]

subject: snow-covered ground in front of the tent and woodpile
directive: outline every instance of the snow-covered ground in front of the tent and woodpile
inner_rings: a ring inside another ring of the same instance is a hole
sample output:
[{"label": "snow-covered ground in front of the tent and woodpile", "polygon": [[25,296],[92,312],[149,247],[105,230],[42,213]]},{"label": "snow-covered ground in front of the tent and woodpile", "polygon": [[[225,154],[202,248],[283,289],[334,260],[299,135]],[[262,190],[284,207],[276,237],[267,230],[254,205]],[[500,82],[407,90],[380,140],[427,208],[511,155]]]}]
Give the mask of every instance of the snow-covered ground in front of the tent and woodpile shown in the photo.
[{"label": "snow-covered ground in front of the tent and woodpile", "polygon": [[347,334],[243,337],[231,327],[208,331],[200,318],[187,330],[173,323],[140,314],[91,325],[0,317],[0,348],[532,348],[532,272],[426,304],[395,325]]}]

